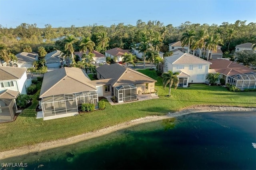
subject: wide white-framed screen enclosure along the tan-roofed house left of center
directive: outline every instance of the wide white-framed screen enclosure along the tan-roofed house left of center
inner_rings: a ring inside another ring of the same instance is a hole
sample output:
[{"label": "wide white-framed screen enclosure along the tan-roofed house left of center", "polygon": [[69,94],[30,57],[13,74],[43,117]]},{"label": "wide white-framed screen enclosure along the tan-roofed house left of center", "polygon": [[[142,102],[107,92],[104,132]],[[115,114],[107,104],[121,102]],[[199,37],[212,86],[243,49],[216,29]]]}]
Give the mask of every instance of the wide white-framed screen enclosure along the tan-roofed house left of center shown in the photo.
[{"label": "wide white-framed screen enclosure along the tan-roofed house left of center", "polygon": [[42,97],[41,105],[44,117],[48,117],[77,113],[81,110],[82,103],[94,103],[95,106],[98,106],[98,93],[87,91]]}]

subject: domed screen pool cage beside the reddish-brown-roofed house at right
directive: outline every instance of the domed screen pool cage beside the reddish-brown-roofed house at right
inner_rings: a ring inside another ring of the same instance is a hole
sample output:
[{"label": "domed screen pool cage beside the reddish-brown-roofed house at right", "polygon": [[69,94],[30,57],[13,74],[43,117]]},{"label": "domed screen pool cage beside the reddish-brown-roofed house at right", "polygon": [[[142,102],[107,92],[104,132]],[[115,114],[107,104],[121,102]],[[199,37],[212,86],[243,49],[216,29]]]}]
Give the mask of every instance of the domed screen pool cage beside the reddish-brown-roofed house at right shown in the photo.
[{"label": "domed screen pool cage beside the reddish-brown-roofed house at right", "polygon": [[256,72],[228,76],[227,83],[241,90],[256,89]]}]

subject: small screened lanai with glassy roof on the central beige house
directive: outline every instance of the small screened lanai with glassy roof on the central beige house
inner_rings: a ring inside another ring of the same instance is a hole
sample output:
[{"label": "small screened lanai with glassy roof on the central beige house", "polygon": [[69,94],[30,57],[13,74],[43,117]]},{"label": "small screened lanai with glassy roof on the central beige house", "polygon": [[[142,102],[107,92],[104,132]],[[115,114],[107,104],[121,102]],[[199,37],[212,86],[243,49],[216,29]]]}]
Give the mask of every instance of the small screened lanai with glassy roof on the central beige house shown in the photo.
[{"label": "small screened lanai with glassy roof on the central beige house", "polygon": [[134,85],[116,86],[114,87],[114,96],[118,103],[137,100],[137,87]]}]

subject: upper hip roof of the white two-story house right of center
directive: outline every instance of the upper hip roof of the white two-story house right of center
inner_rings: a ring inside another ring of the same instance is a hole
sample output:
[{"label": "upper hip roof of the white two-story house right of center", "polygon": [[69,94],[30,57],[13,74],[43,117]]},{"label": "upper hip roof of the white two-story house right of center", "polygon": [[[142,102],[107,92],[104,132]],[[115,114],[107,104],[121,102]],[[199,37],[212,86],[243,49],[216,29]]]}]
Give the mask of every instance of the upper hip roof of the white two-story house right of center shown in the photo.
[{"label": "upper hip roof of the white two-story house right of center", "polygon": [[178,53],[164,59],[171,64],[211,64],[211,62],[196,57],[190,53]]}]

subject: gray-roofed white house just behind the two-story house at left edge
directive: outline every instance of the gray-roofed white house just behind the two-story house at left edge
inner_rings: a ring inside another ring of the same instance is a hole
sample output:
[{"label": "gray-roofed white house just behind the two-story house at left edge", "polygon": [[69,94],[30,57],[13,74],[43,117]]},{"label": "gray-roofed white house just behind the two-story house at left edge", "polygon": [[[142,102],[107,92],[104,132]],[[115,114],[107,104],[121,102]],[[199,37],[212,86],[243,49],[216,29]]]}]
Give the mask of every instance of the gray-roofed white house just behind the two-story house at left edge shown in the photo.
[{"label": "gray-roofed white house just behind the two-story house at left edge", "polygon": [[18,67],[30,68],[34,67],[33,62],[38,61],[38,53],[21,52],[16,54],[18,58]]}]

